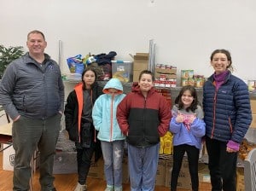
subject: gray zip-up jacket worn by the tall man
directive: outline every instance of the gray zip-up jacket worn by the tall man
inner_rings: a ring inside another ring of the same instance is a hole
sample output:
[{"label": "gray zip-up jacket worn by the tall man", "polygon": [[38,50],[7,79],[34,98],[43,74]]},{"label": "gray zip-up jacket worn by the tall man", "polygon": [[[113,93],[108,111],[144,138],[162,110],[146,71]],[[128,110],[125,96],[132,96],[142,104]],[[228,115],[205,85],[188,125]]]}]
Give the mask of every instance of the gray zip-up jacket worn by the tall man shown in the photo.
[{"label": "gray zip-up jacket worn by the tall man", "polygon": [[64,110],[64,85],[57,63],[45,54],[45,67],[26,53],[12,61],[0,83],[0,104],[11,119],[47,119]]}]

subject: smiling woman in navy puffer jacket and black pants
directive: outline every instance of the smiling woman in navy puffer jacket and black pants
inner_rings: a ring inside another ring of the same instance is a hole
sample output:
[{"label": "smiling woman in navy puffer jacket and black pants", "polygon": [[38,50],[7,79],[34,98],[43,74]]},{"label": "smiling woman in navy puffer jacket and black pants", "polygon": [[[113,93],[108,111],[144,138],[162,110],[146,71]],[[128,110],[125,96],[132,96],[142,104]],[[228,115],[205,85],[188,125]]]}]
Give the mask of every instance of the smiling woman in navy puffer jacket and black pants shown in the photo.
[{"label": "smiling woman in navy puffer jacket and black pants", "polygon": [[214,73],[203,88],[212,190],[236,191],[237,153],[252,121],[247,84],[231,74],[231,64],[228,50],[214,50]]}]

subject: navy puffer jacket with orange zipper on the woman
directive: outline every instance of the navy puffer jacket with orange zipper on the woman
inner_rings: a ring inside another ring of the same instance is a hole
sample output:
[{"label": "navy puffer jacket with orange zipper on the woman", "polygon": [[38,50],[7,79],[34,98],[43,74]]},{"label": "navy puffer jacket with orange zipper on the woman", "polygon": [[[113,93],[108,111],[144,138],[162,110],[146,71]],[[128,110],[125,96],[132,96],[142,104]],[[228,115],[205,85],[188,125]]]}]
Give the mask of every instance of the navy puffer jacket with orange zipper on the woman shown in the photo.
[{"label": "navy puffer jacket with orange zipper on the woman", "polygon": [[206,135],[222,142],[241,143],[252,122],[247,84],[230,72],[218,90],[213,81],[212,75],[203,87]]}]

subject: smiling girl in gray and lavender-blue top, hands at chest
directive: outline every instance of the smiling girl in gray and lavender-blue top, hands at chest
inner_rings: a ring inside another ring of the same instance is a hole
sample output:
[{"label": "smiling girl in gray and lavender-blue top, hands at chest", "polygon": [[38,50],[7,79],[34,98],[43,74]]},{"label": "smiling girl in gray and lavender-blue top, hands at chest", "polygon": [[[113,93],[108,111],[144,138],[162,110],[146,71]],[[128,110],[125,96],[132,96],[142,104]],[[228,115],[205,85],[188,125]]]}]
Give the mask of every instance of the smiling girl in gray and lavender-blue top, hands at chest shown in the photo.
[{"label": "smiling girl in gray and lavender-blue top, hands at chest", "polygon": [[186,152],[189,160],[189,174],[192,190],[198,191],[198,159],[201,149],[201,137],[206,133],[202,108],[197,100],[196,90],[184,86],[172,107],[170,131],[173,134],[173,167],[171,191],[177,189],[177,178]]}]

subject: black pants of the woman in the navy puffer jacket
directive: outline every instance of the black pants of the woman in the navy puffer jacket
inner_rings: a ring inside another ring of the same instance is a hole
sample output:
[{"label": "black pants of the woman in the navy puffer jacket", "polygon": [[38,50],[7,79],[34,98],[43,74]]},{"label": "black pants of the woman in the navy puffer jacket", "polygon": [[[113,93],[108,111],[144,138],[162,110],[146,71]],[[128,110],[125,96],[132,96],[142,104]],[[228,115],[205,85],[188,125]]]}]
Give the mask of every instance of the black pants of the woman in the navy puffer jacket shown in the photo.
[{"label": "black pants of the woman in the navy puffer jacket", "polygon": [[212,191],[236,191],[236,153],[227,153],[227,142],[206,137]]}]

